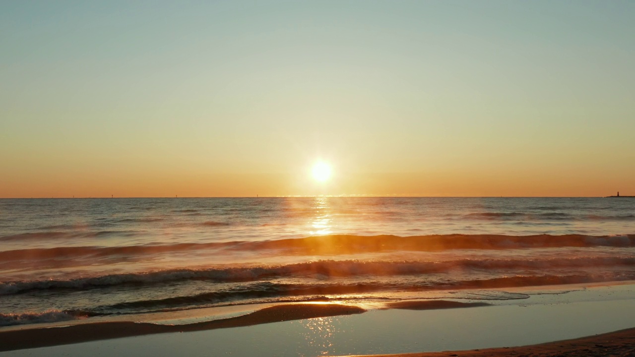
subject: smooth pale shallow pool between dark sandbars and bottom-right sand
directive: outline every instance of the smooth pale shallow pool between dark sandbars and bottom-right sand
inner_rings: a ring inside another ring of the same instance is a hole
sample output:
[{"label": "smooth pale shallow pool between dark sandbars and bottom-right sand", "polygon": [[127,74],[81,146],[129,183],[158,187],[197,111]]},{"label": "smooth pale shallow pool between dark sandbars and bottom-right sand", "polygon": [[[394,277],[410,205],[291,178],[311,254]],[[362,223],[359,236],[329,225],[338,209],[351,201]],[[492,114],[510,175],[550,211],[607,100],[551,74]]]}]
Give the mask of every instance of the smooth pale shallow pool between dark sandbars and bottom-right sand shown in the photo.
[{"label": "smooth pale shallow pool between dark sandbars and bottom-right sand", "polygon": [[[631,328],[633,285],[523,300],[526,306],[369,311],[3,352],[3,356],[333,356],[525,346]],[[615,299],[606,295],[615,293]],[[630,297],[630,299],[623,299]]]}]

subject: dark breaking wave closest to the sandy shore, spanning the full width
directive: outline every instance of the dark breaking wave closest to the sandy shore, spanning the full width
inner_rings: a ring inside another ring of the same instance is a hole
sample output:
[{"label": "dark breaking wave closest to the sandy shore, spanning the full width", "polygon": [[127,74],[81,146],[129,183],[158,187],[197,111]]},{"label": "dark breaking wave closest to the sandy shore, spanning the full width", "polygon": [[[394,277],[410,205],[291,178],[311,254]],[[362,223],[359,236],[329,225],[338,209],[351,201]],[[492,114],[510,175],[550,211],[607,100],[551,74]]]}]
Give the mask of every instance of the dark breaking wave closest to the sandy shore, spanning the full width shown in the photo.
[{"label": "dark breaking wave closest to the sandy shore, spanning the full width", "polygon": [[[565,285],[574,283],[593,283],[599,281],[633,280],[635,272],[609,274],[544,274],[528,276],[523,274],[481,278],[462,281],[426,281],[426,280],[368,280],[363,282],[343,281],[304,281],[287,283],[280,281],[255,281],[241,285],[224,287],[217,291],[196,293],[194,295],[177,295],[158,299],[140,299],[117,302],[101,306],[68,309],[64,311],[50,310],[38,313],[25,312],[2,314],[0,326],[24,325],[30,323],[51,323],[70,321],[92,316],[110,314],[151,313],[157,311],[178,311],[212,306],[231,306],[255,304],[262,302],[302,302],[330,300],[394,300],[387,298],[386,292],[434,292],[435,299],[469,299],[469,300],[510,300],[526,299],[525,293],[510,293],[490,290],[516,286]],[[462,290],[462,291],[460,291]],[[175,290],[180,292],[182,290]],[[380,295],[373,295],[380,293]]]}]

